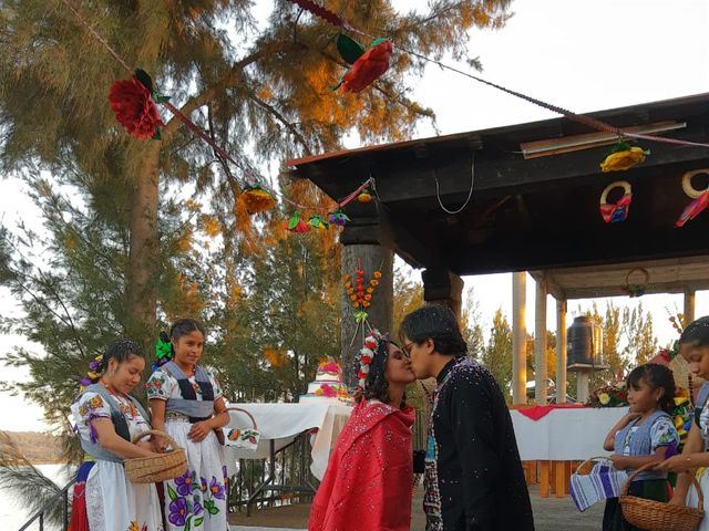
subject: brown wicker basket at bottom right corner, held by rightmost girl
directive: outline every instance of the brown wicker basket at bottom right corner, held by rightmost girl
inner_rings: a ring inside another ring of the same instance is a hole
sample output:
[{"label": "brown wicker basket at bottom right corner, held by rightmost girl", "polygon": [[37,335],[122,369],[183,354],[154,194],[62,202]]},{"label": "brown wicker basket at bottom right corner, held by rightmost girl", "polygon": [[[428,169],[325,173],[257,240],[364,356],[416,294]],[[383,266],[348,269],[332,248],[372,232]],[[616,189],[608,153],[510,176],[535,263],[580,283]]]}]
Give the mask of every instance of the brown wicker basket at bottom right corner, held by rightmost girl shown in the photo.
[{"label": "brown wicker basket at bottom right corner, held by rightmost girl", "polygon": [[628,488],[633,479],[641,471],[654,466],[655,464],[649,462],[638,468],[626,481],[620,493],[623,517],[630,524],[648,531],[695,531],[705,517],[705,496],[693,473],[690,476],[695,483],[695,489],[697,489],[697,509],[628,496]]}]

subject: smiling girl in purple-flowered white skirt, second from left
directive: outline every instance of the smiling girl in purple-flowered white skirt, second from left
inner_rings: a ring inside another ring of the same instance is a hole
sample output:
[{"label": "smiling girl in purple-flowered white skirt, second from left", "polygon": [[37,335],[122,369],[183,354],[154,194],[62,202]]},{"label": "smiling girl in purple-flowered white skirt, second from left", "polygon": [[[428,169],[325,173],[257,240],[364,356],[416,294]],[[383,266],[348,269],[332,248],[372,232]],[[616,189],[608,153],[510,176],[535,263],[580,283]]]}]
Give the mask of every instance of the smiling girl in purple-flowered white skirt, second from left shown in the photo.
[{"label": "smiling girl in purple-flowered white skirt, second from left", "polygon": [[193,319],[173,324],[172,361],[146,385],[153,426],[187,452],[187,472],[164,483],[171,531],[227,529],[227,475],[215,429],[228,424],[229,414],[216,379],[197,365],[204,337],[203,326]]}]

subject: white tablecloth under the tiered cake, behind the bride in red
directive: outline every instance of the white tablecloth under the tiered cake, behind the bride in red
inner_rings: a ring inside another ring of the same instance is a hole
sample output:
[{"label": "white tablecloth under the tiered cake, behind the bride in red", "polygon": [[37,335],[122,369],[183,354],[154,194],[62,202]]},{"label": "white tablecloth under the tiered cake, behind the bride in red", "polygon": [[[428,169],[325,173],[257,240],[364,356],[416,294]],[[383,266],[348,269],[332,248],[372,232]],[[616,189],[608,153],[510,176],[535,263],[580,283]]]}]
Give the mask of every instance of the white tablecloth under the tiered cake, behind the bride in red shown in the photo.
[{"label": "white tablecloth under the tiered cake, behind the bride in red", "polygon": [[[226,447],[225,457],[229,473],[235,472],[238,459],[264,459],[269,456],[269,441],[276,450],[291,442],[299,434],[312,428],[318,433],[312,441],[310,470],[322,479],[335,448],[338,435],[347,424],[351,407],[338,404],[229,404],[229,407],[246,409],[254,416],[261,434],[256,452]],[[232,428],[251,427],[251,421],[240,412],[229,412]]]}]

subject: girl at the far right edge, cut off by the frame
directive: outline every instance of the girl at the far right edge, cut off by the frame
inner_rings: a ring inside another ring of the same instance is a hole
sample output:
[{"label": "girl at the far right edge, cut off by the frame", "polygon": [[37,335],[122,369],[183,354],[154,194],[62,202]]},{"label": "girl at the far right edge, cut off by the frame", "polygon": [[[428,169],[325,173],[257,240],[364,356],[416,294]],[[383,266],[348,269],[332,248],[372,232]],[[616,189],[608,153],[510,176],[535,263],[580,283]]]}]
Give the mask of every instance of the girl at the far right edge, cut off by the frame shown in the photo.
[{"label": "girl at the far right edge, cut off by the frame", "polygon": [[[690,371],[702,378],[709,378],[709,315],[690,323],[679,339],[680,353],[689,362]],[[693,486],[690,489],[691,476],[697,475],[697,480],[705,492],[705,512],[709,511],[709,384],[705,384],[699,391],[695,404],[695,421],[692,423],[685,448],[680,456],[675,456],[657,467],[658,470],[679,473],[675,496],[670,503],[687,504],[697,508],[697,491]],[[688,494],[689,491],[689,494]],[[709,518],[705,517],[699,525],[699,531],[709,531]]]}]

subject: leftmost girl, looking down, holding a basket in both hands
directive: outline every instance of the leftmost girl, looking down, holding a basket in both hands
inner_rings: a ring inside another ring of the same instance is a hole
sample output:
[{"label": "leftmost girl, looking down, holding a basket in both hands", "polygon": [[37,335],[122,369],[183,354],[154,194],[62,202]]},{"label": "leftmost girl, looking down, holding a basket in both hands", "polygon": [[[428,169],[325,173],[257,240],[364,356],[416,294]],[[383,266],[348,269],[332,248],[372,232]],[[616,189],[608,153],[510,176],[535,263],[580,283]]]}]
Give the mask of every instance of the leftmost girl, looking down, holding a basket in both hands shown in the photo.
[{"label": "leftmost girl, looking down, holding a basket in both hands", "polygon": [[71,406],[86,452],[74,487],[71,531],[163,529],[155,486],[132,483],[123,468],[123,459],[156,456],[150,442],[131,442],[151,429],[147,414],[129,395],[144,368],[145,354],[137,344],[110,344],[103,357],[92,363],[90,374],[99,373],[101,379],[89,385]]}]

